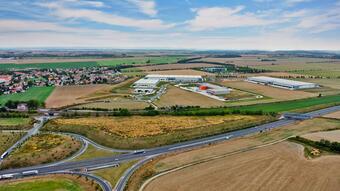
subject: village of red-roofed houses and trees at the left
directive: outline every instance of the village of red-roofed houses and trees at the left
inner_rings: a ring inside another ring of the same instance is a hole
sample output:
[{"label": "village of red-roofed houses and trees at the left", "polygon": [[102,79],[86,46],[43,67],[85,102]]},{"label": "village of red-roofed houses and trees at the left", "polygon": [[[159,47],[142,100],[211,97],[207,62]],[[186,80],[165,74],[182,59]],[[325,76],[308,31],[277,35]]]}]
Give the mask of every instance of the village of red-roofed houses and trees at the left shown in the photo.
[{"label": "village of red-roofed houses and trees at the left", "polygon": [[0,95],[25,92],[33,86],[113,84],[126,78],[108,67],[6,71],[0,73]]}]

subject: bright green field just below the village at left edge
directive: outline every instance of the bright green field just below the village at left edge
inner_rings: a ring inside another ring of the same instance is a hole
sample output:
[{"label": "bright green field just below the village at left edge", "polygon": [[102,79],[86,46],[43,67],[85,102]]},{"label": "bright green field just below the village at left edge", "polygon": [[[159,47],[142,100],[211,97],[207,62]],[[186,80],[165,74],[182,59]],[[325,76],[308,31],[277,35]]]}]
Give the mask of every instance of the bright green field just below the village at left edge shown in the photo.
[{"label": "bright green field just below the village at left edge", "polygon": [[0,105],[4,105],[7,101],[29,101],[37,100],[40,103],[44,103],[48,96],[53,92],[54,87],[32,87],[26,92],[0,95]]}]

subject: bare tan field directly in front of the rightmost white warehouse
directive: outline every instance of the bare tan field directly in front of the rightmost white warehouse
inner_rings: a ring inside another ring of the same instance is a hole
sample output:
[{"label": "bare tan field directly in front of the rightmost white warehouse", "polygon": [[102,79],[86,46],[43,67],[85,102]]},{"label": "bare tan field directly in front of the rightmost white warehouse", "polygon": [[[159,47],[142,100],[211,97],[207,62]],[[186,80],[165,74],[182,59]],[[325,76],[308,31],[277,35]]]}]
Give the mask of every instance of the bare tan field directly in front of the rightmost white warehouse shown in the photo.
[{"label": "bare tan field directly in front of the rightmost white warehouse", "polygon": [[221,84],[227,87],[260,94],[280,101],[316,97],[318,95],[315,93],[280,89],[239,80],[224,80],[221,82]]}]

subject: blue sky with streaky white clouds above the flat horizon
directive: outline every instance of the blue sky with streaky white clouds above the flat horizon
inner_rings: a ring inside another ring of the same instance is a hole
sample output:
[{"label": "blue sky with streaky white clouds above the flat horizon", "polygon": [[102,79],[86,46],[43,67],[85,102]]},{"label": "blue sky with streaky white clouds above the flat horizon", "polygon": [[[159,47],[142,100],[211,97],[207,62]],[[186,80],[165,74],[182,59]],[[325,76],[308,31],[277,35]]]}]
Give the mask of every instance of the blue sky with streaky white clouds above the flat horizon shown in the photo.
[{"label": "blue sky with streaky white clouds above the flat horizon", "polygon": [[340,0],[1,0],[0,48],[340,50]]}]

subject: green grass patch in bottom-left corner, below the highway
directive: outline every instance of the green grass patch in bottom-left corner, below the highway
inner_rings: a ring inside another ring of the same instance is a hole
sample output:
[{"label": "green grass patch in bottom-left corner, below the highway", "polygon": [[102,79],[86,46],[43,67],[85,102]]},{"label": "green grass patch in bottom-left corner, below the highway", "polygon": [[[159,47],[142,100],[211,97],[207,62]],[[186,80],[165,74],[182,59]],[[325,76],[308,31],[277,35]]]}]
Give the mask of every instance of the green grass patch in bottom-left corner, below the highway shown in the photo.
[{"label": "green grass patch in bottom-left corner, below the highway", "polygon": [[68,179],[36,180],[19,183],[0,183],[0,191],[85,191],[82,186]]}]

